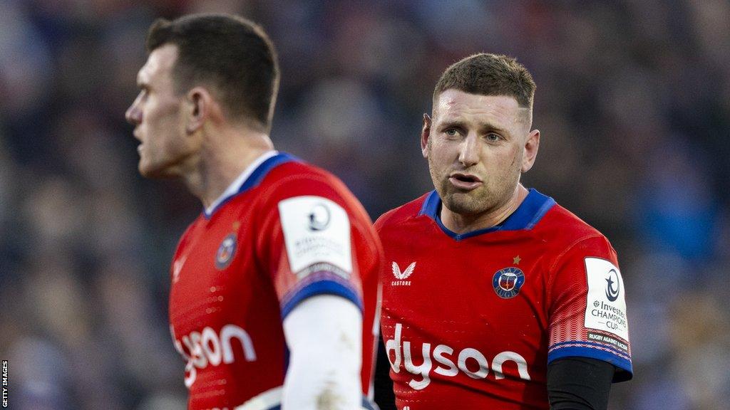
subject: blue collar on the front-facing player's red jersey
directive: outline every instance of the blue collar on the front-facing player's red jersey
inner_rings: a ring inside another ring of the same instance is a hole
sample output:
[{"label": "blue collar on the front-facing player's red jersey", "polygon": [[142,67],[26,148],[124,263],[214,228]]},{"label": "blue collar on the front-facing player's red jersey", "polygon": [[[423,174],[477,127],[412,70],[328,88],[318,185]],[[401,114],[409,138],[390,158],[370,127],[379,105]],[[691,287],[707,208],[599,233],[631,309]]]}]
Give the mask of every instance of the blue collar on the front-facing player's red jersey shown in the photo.
[{"label": "blue collar on the front-facing player's red jersey", "polygon": [[432,190],[429,196],[426,197],[426,201],[423,201],[423,206],[418,212],[419,215],[426,215],[434,220],[441,228],[444,233],[448,236],[460,241],[461,239],[471,238],[472,236],[481,235],[482,233],[489,233],[495,231],[520,231],[530,230],[536,225],[546,212],[555,205],[555,200],[549,196],[545,196],[542,193],[537,192],[534,188],[530,188],[526,198],[522,201],[522,204],[512,212],[506,220],[502,221],[499,225],[492,226],[491,228],[477,229],[477,231],[471,231],[466,233],[456,233],[446,228],[441,222],[441,198],[436,190]]}]

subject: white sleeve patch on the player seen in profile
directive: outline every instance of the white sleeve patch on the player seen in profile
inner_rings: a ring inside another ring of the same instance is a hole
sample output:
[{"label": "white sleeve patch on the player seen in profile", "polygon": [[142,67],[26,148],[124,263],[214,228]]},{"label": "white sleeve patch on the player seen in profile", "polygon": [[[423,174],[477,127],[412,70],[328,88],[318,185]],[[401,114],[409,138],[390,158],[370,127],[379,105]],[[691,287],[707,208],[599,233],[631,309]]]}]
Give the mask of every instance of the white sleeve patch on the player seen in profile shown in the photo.
[{"label": "white sleeve patch on the player seen in profile", "polygon": [[279,216],[294,274],[313,263],[353,271],[350,219],[342,206],[321,196],[296,196],[279,203]]}]

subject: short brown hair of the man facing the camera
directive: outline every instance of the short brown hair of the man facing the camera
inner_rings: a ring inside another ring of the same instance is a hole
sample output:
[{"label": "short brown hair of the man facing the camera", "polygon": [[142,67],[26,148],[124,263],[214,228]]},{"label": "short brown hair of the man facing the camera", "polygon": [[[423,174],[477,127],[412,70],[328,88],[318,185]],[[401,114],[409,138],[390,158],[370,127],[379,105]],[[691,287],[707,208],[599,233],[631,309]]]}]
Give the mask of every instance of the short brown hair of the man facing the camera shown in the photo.
[{"label": "short brown hair of the man facing the camera", "polygon": [[450,88],[483,96],[515,97],[520,107],[531,109],[536,85],[530,72],[515,58],[479,53],[453,63],[441,74],[434,101]]}]

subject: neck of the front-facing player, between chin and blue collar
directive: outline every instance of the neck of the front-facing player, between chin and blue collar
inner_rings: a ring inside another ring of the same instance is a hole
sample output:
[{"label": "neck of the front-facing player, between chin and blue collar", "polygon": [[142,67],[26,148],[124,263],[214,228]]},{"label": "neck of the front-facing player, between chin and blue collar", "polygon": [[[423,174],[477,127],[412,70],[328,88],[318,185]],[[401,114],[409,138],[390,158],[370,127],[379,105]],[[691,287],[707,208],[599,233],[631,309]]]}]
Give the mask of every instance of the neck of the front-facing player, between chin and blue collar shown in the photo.
[{"label": "neck of the front-facing player, between chin and blue collar", "polygon": [[528,191],[522,184],[518,184],[512,197],[498,209],[477,215],[457,214],[451,212],[446,206],[441,206],[441,222],[449,231],[454,233],[467,233],[480,229],[491,228],[499,225],[509,217],[515,209],[518,209],[522,201],[527,197]]}]

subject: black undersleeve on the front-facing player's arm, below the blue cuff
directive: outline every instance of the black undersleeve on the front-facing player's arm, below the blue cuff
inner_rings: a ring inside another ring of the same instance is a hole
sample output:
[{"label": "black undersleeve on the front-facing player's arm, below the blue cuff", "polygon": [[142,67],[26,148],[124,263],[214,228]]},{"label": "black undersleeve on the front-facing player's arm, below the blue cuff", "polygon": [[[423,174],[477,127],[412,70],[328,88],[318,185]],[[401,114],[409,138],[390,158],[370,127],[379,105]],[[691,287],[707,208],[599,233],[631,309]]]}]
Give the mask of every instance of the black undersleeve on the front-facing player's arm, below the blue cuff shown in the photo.
[{"label": "black undersleeve on the front-facing player's arm, below the blue cuff", "polygon": [[550,410],[606,410],[612,364],[589,357],[564,357],[548,365]]}]

